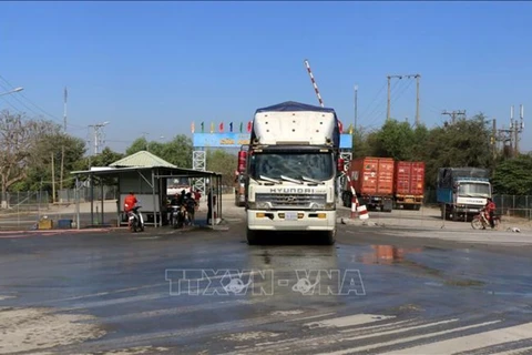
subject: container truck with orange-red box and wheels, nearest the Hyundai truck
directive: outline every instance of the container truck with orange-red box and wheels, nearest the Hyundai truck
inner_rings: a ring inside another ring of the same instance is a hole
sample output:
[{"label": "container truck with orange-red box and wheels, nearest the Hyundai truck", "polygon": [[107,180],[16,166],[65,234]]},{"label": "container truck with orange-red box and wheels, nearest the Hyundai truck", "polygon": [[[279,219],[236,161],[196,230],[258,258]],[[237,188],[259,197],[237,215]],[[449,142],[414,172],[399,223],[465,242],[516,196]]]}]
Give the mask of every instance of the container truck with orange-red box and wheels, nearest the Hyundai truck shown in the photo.
[{"label": "container truck with orange-red box and wheels, nearest the Hyundai truck", "polygon": [[[391,212],[393,209],[393,171],[391,158],[359,158],[351,161],[349,176],[351,179],[358,203],[371,210]],[[352,193],[349,182],[341,193],[345,206],[351,206]]]}]

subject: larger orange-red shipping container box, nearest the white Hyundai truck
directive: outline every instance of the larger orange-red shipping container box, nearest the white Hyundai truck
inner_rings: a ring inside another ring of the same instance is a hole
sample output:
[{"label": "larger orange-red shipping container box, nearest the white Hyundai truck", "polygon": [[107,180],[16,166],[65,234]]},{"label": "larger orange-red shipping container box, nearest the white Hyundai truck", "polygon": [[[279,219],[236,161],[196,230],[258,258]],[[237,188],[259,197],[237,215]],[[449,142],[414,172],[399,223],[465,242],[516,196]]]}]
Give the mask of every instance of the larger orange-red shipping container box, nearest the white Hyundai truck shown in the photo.
[{"label": "larger orange-red shipping container box, nearest the white Hyundai truck", "polygon": [[393,194],[391,158],[360,158],[351,161],[350,178],[357,194],[387,196]]}]

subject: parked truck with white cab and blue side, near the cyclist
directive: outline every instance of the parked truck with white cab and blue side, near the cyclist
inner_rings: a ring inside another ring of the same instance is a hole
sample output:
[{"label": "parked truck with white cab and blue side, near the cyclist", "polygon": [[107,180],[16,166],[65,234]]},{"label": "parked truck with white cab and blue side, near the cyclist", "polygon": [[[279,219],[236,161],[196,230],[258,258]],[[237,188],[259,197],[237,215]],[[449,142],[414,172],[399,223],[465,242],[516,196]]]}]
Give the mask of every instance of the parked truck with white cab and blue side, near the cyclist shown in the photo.
[{"label": "parked truck with white cab and blue side, near the cyclist", "polygon": [[468,220],[491,197],[490,171],[479,168],[440,168],[437,197],[441,217]]}]

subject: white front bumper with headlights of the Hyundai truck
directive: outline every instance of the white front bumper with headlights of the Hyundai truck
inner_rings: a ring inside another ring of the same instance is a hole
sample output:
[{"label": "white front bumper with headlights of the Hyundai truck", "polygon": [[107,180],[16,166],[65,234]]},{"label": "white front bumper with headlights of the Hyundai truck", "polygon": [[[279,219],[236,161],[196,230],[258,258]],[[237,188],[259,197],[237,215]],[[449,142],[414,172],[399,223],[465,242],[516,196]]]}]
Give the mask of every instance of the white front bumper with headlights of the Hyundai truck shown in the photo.
[{"label": "white front bumper with headlights of the Hyundai truck", "polygon": [[334,231],[336,211],[247,210],[247,227],[253,231]]}]

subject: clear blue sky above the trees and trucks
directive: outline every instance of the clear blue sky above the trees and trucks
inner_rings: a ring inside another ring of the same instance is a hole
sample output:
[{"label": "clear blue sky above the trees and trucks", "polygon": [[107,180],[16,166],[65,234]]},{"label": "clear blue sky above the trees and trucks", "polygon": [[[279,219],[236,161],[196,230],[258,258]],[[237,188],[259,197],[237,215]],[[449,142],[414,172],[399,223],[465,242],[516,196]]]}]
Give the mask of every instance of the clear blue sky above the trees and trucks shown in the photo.
[{"label": "clear blue sky above the trees and trucks", "polygon": [[[386,77],[420,73],[427,125],[467,110],[508,128],[512,104],[532,110],[531,34],[532,2],[1,2],[0,75],[24,91],[0,109],[62,122],[68,87],[69,132],[110,121],[106,145],[124,151],[143,132],[166,140],[192,121],[237,126],[260,106],[317,104],[308,59],[346,126],[355,84],[358,123],[378,128]],[[393,84],[391,115],[413,122],[415,81]]]}]

